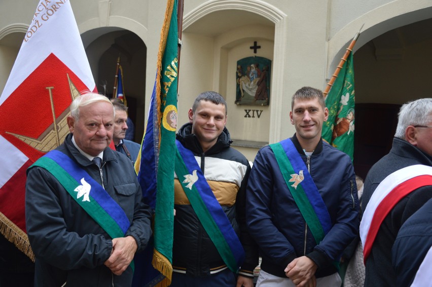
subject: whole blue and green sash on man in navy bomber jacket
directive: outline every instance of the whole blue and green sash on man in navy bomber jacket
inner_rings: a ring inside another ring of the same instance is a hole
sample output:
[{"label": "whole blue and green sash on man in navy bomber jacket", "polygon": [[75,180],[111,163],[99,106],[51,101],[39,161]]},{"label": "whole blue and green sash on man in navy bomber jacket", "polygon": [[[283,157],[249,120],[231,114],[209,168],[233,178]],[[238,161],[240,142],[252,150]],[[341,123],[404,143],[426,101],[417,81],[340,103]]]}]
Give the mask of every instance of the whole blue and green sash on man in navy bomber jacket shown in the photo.
[{"label": "whole blue and green sash on man in navy bomber jacket", "polygon": [[[271,144],[270,147],[294,201],[309,226],[315,242],[319,244],[332,228],[332,221],[326,204],[291,139]],[[301,174],[300,171],[302,171],[304,179],[295,188],[292,178],[296,174]]]}]

